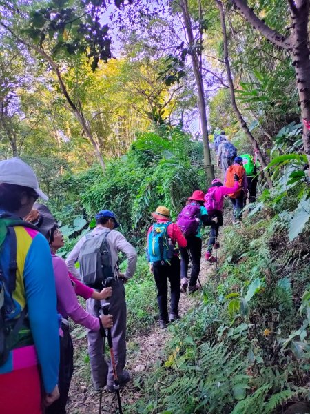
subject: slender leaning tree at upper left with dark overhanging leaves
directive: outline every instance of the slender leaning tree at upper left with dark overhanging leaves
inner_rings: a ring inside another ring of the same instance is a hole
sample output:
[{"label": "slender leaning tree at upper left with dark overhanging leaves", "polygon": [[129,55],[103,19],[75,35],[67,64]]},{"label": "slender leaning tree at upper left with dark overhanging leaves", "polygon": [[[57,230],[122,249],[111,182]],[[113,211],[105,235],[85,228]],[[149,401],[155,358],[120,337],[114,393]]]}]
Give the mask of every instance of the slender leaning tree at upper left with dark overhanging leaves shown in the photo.
[{"label": "slender leaning tree at upper left with dark overhanging leaves", "polygon": [[[117,6],[122,3],[121,0],[115,0]],[[0,26],[15,41],[34,52],[38,61],[43,59],[54,71],[68,110],[79,121],[104,170],[105,162],[94,139],[90,120],[85,119],[79,97],[70,96],[63,69],[70,67],[72,60],[79,55],[87,56],[92,70],[96,70],[100,60],[107,61],[111,57],[108,26],[101,19],[107,3],[104,0],[76,0],[72,5],[68,0],[55,0],[39,10],[28,10],[24,7],[20,10],[10,1],[3,2],[1,6],[4,17],[0,20]]]}]

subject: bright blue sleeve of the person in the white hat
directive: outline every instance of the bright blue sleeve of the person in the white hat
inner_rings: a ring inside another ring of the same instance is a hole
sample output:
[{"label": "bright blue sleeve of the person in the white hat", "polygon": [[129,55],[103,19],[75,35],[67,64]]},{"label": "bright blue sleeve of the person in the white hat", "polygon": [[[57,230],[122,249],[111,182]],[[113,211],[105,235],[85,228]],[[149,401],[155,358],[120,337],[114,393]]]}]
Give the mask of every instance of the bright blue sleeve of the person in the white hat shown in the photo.
[{"label": "bright blue sleeve of the person in the white hat", "polygon": [[32,240],[24,268],[25,295],[34,346],[41,366],[43,385],[50,393],[58,382],[59,324],[52,257],[45,237]]}]

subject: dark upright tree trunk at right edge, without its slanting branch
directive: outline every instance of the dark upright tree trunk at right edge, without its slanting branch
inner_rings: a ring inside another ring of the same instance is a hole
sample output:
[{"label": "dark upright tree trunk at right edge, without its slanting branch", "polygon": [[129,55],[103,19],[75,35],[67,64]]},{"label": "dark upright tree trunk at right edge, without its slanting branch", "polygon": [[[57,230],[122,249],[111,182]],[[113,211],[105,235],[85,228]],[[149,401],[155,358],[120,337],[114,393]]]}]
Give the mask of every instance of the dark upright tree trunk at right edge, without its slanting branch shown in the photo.
[{"label": "dark upright tree trunk at right edge, without its slanting branch", "polygon": [[[291,53],[296,73],[302,120],[307,124],[310,122],[309,0],[296,0],[295,4],[291,5],[291,20],[292,33],[289,52]],[[310,130],[305,124],[302,141],[304,143],[304,152],[310,164]]]}]

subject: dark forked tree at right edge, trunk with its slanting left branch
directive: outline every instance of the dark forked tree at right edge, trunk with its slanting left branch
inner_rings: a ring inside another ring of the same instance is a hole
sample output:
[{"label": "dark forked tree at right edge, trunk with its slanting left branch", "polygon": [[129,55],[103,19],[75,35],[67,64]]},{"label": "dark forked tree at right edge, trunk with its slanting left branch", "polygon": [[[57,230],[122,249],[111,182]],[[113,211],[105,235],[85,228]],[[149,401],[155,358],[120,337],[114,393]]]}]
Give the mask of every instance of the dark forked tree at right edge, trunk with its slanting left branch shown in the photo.
[{"label": "dark forked tree at right edge, trunk with its slanting left branch", "polygon": [[[247,6],[245,0],[232,0],[245,19],[276,46],[287,50],[296,73],[301,116],[304,121],[302,141],[310,164],[310,47],[308,36],[309,0],[287,0],[291,11],[291,34],[285,37],[269,28]],[[310,172],[309,172],[310,174]]]}]

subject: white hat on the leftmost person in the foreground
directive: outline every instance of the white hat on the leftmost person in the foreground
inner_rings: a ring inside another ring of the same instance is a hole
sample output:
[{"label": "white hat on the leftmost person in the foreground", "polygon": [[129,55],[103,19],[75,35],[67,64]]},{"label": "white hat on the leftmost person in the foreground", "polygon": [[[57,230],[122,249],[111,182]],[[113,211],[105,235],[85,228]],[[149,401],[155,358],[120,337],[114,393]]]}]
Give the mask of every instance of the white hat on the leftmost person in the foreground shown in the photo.
[{"label": "white hat on the leftmost person in the foreground", "polygon": [[32,168],[18,157],[0,161],[0,183],[30,187],[41,199],[48,201],[48,196],[39,188],[38,179]]}]

